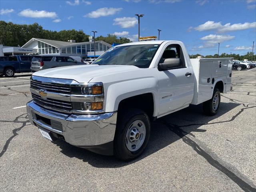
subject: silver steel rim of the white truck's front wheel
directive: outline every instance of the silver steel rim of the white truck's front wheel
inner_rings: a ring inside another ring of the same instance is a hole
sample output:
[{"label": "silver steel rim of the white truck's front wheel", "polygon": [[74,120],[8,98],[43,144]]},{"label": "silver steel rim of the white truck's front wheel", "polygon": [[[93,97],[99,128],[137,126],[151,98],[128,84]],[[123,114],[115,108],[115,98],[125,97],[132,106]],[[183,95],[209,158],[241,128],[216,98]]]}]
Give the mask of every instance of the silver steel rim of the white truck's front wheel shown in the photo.
[{"label": "silver steel rim of the white truck's front wheel", "polygon": [[146,126],[141,120],[132,122],[126,132],[125,144],[129,151],[138,150],[144,143]]}]

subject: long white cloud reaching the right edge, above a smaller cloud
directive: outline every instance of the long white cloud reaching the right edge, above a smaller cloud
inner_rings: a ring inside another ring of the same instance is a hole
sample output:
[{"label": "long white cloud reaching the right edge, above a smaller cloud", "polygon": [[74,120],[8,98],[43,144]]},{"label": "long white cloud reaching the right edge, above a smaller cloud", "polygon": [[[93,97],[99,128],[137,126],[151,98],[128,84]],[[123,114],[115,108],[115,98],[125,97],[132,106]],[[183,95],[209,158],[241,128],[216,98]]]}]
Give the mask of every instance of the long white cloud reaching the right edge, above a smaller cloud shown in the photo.
[{"label": "long white cloud reaching the right edge, above a smaller cloud", "polygon": [[[224,33],[224,32],[231,32],[231,31],[238,31],[238,30],[246,30],[250,28],[256,28],[256,22],[252,23],[236,23],[236,24],[230,24],[227,23],[225,25],[222,25],[221,22],[214,22],[214,21],[207,21],[202,25],[199,25],[195,27],[194,29],[197,31],[208,31],[208,30],[216,30],[218,33]],[[190,31],[192,28],[188,28]]]}]

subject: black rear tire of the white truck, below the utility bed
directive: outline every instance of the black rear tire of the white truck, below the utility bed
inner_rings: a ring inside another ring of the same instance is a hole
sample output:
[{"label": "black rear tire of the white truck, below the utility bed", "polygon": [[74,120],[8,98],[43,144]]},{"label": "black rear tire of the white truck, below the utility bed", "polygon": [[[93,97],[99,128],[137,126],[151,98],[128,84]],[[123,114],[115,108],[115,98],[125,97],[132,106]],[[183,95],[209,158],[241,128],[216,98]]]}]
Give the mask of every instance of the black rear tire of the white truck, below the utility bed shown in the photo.
[{"label": "black rear tire of the white truck, below the utility bed", "polygon": [[[214,100],[216,100],[215,97],[218,97],[218,104],[215,104],[214,106]],[[204,114],[208,116],[216,115],[218,112],[220,106],[220,90],[218,88],[214,88],[212,98],[206,102],[203,102],[203,111]]]}]

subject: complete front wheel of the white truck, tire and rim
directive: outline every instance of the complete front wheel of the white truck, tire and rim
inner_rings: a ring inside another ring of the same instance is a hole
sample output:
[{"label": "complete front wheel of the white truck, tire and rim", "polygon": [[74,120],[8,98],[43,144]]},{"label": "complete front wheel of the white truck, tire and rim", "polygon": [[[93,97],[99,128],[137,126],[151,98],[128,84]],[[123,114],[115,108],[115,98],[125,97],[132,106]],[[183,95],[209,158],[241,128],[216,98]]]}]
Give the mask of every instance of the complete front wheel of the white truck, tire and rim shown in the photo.
[{"label": "complete front wheel of the white truck, tire and rim", "polygon": [[129,109],[118,116],[114,155],[130,161],[142,154],[150,137],[150,120],[145,112]]}]

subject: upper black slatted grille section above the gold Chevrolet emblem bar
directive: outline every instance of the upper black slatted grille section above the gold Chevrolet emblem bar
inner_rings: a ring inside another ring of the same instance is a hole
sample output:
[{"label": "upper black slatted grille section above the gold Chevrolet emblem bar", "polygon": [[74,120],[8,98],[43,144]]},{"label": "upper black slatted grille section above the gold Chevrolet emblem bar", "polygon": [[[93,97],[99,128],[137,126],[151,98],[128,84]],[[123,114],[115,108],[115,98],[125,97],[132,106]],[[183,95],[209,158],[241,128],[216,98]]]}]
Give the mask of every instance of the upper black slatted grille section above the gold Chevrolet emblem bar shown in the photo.
[{"label": "upper black slatted grille section above the gold Chevrolet emblem bar", "polygon": [[38,81],[30,81],[30,86],[36,90],[46,90],[54,93],[71,94],[71,88],[67,85],[59,85],[52,83],[43,83]]}]

